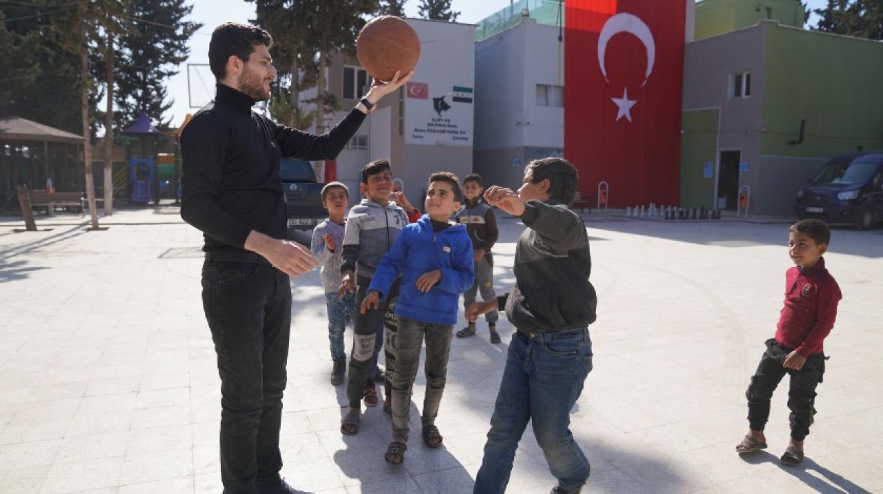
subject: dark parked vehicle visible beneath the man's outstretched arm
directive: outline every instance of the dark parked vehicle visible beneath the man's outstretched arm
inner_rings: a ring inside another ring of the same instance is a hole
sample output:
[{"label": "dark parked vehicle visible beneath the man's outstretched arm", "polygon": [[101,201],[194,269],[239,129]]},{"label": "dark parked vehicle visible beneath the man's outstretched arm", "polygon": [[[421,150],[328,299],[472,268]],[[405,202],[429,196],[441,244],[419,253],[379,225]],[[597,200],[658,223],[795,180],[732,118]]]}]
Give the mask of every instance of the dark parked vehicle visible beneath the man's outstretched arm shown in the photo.
[{"label": "dark parked vehicle visible beneath the man's outstretched arm", "polygon": [[288,209],[288,230],[312,230],[328,213],[322,207],[322,187],[316,179],[313,165],[302,159],[282,158],[279,161],[279,177],[285,193]]}]

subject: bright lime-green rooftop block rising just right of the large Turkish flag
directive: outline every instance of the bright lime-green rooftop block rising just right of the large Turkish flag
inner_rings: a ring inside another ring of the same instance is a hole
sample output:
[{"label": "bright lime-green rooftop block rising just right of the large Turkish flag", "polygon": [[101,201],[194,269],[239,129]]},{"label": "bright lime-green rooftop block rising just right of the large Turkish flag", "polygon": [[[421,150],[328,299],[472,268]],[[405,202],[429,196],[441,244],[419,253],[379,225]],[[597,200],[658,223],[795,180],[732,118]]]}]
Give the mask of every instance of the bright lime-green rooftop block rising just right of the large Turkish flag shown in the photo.
[{"label": "bright lime-green rooftop block rising just right of the large Turkish flag", "polygon": [[763,19],[802,27],[804,8],[798,0],[702,0],[696,4],[695,39],[751,27]]}]

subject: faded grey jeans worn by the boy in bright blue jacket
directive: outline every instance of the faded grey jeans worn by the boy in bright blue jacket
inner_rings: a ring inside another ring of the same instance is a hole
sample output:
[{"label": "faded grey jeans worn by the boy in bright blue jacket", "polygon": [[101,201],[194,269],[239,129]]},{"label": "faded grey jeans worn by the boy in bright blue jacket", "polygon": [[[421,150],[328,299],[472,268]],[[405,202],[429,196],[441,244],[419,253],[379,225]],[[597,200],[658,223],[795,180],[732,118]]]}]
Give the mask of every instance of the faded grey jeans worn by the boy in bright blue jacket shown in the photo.
[{"label": "faded grey jeans worn by the boy in bright blue jacket", "polygon": [[387,347],[396,356],[396,372],[392,376],[392,440],[408,442],[408,421],[411,418],[411,393],[420,365],[420,347],[426,339],[426,395],[423,398],[423,427],[433,425],[442,402],[448,376],[450,338],[453,324],[423,323],[398,318],[398,331],[390,332]]}]

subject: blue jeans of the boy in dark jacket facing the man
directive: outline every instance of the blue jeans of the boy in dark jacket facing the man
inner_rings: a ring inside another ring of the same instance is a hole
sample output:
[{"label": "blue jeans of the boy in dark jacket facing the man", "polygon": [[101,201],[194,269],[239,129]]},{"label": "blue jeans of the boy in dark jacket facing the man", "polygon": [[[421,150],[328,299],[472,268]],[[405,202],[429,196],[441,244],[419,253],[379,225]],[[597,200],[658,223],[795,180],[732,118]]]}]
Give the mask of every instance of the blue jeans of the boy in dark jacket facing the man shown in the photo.
[{"label": "blue jeans of the boy in dark jacket facing the man", "polygon": [[585,484],[589,461],[569,426],[570,409],[591,370],[592,340],[586,328],[512,335],[475,494],[505,492],[528,421],[558,484],[566,490]]}]

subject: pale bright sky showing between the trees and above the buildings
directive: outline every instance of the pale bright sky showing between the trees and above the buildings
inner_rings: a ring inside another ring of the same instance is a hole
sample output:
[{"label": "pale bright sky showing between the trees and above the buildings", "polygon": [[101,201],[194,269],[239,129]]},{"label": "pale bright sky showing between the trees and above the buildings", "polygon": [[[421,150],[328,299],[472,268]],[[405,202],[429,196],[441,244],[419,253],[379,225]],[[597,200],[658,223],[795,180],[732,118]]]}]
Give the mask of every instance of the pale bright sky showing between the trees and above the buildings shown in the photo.
[{"label": "pale bright sky showing between the trees and above the buildings", "polygon": [[[191,20],[201,22],[204,26],[193,35],[190,42],[190,59],[180,66],[178,74],[169,82],[169,95],[174,98],[174,104],[170,110],[172,117],[171,125],[177,126],[184,120],[187,113],[192,113],[189,107],[187,90],[187,67],[186,64],[208,64],[208,40],[212,29],[224,22],[243,22],[254,17],[254,4],[245,0],[194,0]],[[405,4],[405,13],[409,17],[418,17],[418,0],[408,0]],[[810,0],[811,9],[821,8],[825,0]],[[458,22],[477,23],[488,15],[509,6],[509,0],[453,0],[451,8],[459,11]],[[811,20],[811,22],[813,22]],[[198,90],[205,91],[203,83],[211,88],[213,80],[191,81],[199,84]]]}]

